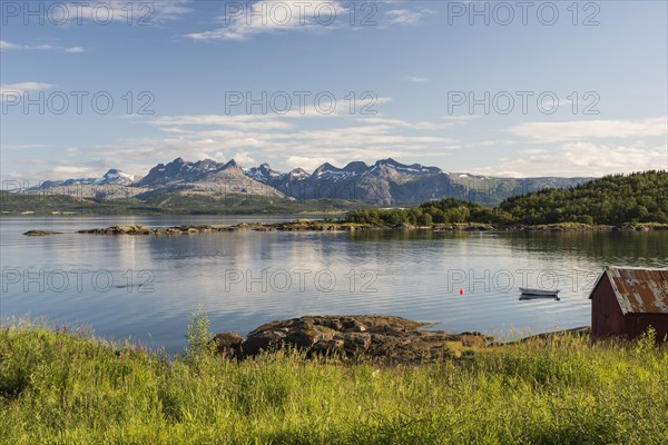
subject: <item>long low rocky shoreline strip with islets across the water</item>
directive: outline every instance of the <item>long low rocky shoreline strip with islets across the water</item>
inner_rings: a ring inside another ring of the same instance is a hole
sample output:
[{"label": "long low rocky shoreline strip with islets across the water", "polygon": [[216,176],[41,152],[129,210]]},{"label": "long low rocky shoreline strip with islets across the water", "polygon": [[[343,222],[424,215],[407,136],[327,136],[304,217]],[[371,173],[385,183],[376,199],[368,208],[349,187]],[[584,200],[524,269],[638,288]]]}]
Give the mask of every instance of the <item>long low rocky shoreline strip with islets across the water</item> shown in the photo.
[{"label": "long low rocky shoreline strip with islets across the water", "polygon": [[[548,224],[548,225],[513,225],[493,226],[482,222],[434,224],[432,226],[374,226],[370,224],[334,222],[317,220],[295,220],[289,222],[240,222],[225,225],[184,225],[171,227],[146,227],[139,225],[119,225],[106,228],[78,230],[78,234],[94,235],[189,235],[216,231],[358,231],[358,230],[430,230],[430,231],[591,231],[622,230],[650,231],[668,230],[667,224],[626,224],[621,226],[587,225],[587,224]],[[46,236],[60,233],[35,229],[24,233],[26,236]]]}]

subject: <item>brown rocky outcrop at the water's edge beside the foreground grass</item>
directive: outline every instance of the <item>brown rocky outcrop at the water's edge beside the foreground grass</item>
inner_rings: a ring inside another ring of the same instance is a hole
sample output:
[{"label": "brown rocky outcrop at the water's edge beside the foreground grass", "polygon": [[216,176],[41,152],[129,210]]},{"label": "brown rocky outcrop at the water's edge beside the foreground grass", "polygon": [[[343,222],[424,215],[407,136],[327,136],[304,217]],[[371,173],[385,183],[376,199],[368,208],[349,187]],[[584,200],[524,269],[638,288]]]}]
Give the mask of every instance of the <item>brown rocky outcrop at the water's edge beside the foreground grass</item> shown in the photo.
[{"label": "brown rocky outcrop at the water's edge beside the foreground grass", "polygon": [[394,316],[305,316],[267,323],[246,339],[236,333],[217,334],[214,342],[219,354],[239,359],[292,347],[308,356],[416,363],[460,355],[461,347],[484,347],[491,340],[480,333],[419,329],[426,325]]}]

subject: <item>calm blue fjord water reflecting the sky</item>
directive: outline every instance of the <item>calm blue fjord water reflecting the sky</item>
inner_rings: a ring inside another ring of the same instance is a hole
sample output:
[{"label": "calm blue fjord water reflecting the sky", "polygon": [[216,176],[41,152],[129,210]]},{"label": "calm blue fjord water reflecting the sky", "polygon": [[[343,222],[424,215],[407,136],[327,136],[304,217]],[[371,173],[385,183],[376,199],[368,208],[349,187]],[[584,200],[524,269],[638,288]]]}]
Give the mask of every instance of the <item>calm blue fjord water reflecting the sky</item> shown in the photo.
[{"label": "calm blue fjord water reflecting the sky", "polygon": [[[0,315],[86,325],[170,353],[185,346],[198,305],[213,332],[246,334],[307,314],[383,314],[509,337],[589,325],[588,294],[606,265],[668,267],[668,231],[75,233],[294,218],[3,217]],[[36,228],[63,234],[21,235]],[[519,300],[520,286],[556,287],[561,299]]]}]

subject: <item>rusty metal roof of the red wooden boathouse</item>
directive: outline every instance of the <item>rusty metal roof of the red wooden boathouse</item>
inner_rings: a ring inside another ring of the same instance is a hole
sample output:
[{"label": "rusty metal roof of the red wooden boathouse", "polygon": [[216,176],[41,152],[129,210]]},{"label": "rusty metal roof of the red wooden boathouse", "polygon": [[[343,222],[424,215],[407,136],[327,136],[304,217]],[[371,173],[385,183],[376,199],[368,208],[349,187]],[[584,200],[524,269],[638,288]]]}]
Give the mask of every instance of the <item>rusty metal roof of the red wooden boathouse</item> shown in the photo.
[{"label": "rusty metal roof of the red wooden boathouse", "polygon": [[625,315],[668,314],[668,269],[606,267],[605,276]]}]

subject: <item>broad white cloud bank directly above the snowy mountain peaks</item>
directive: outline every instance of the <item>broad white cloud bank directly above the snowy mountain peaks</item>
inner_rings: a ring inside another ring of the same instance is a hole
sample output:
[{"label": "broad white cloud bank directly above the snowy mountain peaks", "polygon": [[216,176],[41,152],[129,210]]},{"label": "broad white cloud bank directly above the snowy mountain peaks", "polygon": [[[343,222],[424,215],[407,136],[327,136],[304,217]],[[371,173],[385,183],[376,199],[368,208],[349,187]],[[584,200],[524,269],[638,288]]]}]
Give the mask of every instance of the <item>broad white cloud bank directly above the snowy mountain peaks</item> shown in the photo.
[{"label": "broad white cloud bank directly above the snowy mountain peaks", "polygon": [[[177,157],[219,161],[234,158],[244,167],[266,161],[285,171],[295,167],[313,170],[325,161],[338,166],[386,157],[419,161],[430,150],[456,148],[452,139],[441,134],[443,122],[364,119],[357,115],[324,120],[316,128],[307,123],[311,118],[285,116],[186,115],[144,122],[158,127],[163,135],[121,139],[109,146],[78,147],[67,151],[68,158],[73,162],[80,157],[81,168],[89,166],[84,159],[90,159],[104,168],[122,168],[135,175],[145,175],[156,164]],[[416,131],[405,134],[406,128]],[[121,165],[118,159],[122,159]],[[92,176],[101,175],[104,168]],[[33,172],[40,179],[80,176],[75,174],[46,174],[41,169]]]}]

